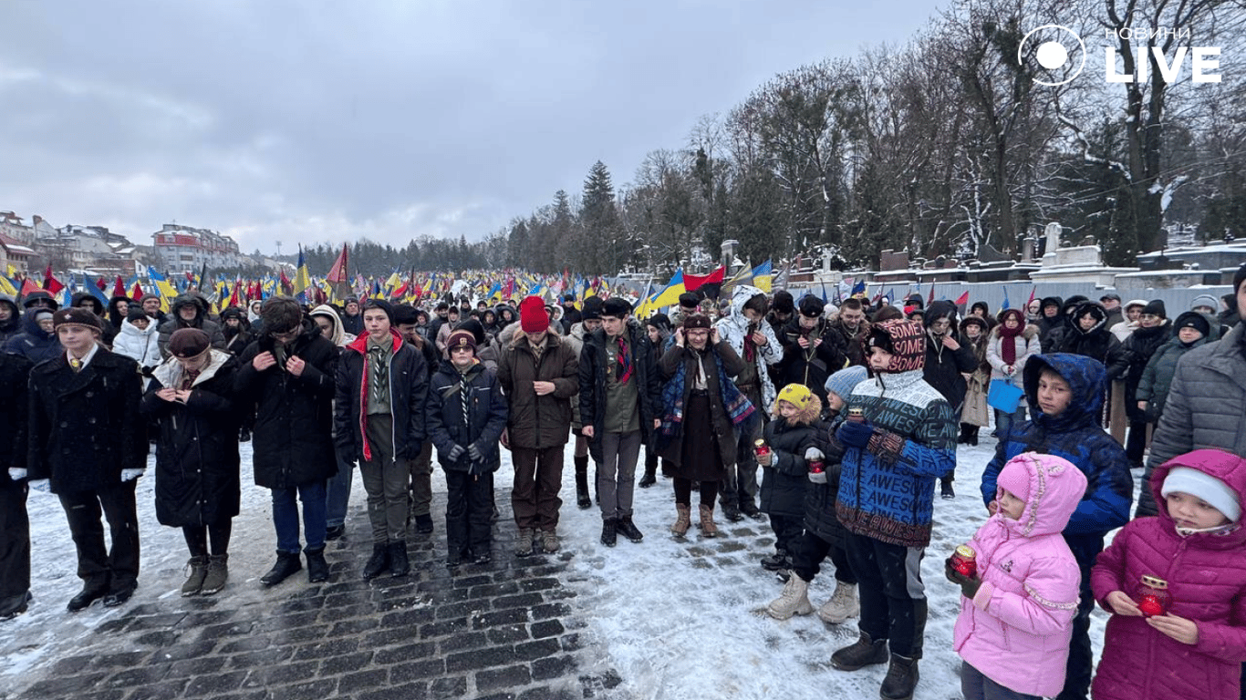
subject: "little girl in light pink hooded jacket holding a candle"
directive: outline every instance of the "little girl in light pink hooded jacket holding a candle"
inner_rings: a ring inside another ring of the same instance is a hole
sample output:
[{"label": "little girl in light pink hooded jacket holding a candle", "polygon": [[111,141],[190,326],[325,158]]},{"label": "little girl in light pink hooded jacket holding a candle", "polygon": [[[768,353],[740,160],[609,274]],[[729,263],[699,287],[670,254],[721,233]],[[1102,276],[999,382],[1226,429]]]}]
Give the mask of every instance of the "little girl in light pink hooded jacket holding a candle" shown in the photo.
[{"label": "little girl in light pink hooded jacket holding a candle", "polygon": [[1080,575],[1060,531],[1085,490],[1067,460],[1013,457],[997,480],[999,508],[968,542],[977,573],[944,563],[962,593],[953,634],[966,700],[1038,699],[1064,686]]}]

